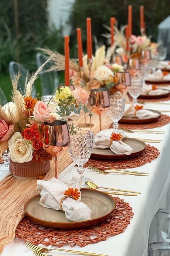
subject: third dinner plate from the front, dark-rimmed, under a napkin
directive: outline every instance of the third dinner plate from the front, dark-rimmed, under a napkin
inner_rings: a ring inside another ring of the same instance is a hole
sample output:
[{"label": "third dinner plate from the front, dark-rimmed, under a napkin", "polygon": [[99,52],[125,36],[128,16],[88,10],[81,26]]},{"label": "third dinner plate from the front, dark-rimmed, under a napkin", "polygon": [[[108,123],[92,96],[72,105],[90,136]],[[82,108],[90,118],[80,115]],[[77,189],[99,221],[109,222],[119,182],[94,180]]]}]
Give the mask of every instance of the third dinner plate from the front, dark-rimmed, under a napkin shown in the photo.
[{"label": "third dinner plate from the front, dark-rimmed, under a napkin", "polygon": [[159,116],[157,117],[153,117],[153,118],[145,118],[145,119],[139,119],[139,118],[125,118],[123,117],[121,120],[119,120],[119,123],[133,123],[133,124],[143,124],[143,123],[152,123],[158,120],[158,118],[161,116],[161,112],[156,111],[156,110],[152,110],[152,109],[147,109],[150,110],[154,113],[159,114]]}]

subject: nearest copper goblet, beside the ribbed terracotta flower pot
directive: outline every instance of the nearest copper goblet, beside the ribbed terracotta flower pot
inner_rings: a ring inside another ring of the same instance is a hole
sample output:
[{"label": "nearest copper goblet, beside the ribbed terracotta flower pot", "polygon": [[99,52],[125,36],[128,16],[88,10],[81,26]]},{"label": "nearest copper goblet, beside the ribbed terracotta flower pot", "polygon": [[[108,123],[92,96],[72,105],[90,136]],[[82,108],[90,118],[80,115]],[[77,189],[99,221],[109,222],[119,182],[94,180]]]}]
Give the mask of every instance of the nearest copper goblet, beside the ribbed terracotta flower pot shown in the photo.
[{"label": "nearest copper goblet, beside the ribbed terracotta flower pot", "polygon": [[56,120],[52,123],[44,122],[44,150],[55,157],[55,178],[57,173],[57,157],[69,148],[70,135],[66,121]]}]

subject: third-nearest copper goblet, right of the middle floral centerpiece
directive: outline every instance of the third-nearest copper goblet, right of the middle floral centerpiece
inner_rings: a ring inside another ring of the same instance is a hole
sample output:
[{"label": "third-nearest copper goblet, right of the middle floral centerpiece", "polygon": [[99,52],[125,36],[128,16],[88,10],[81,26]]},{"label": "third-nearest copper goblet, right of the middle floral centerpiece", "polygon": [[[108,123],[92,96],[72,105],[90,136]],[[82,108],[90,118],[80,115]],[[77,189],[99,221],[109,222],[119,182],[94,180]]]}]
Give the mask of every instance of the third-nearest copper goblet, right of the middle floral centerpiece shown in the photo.
[{"label": "third-nearest copper goblet, right of the middle floral centerpiece", "polygon": [[117,72],[115,74],[115,87],[122,93],[122,96],[128,91],[128,86],[131,86],[131,77],[128,72]]}]

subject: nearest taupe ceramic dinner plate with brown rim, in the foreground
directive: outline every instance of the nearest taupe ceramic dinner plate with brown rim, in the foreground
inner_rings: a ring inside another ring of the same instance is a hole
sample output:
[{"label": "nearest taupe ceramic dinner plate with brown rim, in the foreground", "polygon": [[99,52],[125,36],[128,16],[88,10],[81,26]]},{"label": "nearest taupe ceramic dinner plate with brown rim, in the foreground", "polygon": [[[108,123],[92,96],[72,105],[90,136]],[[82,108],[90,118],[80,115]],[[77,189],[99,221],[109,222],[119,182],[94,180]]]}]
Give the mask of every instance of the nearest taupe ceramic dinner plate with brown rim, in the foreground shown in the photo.
[{"label": "nearest taupe ceramic dinner plate with brown rim, in the foreground", "polygon": [[25,214],[35,223],[59,229],[85,228],[106,220],[115,210],[113,197],[98,190],[81,189],[81,202],[85,203],[92,211],[91,220],[72,222],[68,220],[63,211],[46,208],[39,203],[40,194],[30,198],[24,205]]}]

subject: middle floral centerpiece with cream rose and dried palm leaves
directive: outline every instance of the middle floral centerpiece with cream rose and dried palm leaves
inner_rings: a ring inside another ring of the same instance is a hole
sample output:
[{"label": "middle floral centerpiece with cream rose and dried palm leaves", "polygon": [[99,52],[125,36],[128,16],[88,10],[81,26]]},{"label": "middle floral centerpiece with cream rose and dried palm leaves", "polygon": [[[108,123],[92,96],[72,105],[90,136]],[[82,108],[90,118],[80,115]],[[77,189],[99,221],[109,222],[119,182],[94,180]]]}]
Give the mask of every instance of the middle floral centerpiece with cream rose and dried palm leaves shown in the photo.
[{"label": "middle floral centerpiece with cream rose and dried palm leaves", "polygon": [[[42,50],[49,56],[53,56],[52,60],[54,62],[54,66],[52,66],[49,71],[65,69],[64,56],[59,53],[53,53],[50,50]],[[109,60],[109,53],[105,53],[104,45],[96,50],[95,55],[93,56],[93,64],[91,66],[91,89],[104,87],[107,90],[110,90],[110,88],[115,86],[115,73],[123,71],[123,67],[118,64],[110,64]],[[70,60],[69,66],[71,83],[74,84],[75,87],[81,86],[89,90],[90,84],[87,55],[83,57],[83,78],[81,78],[77,60]]]}]

